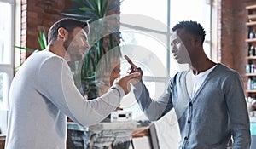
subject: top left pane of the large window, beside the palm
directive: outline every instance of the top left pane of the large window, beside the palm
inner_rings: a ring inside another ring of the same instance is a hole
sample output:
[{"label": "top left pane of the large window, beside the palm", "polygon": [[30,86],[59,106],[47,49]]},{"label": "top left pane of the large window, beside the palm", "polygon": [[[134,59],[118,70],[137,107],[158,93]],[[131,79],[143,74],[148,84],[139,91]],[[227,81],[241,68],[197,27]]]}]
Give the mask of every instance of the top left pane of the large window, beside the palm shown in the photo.
[{"label": "top left pane of the large window, beside the palm", "polygon": [[[121,14],[140,14],[150,16],[154,20],[160,21],[162,24],[167,25],[167,1],[158,1],[155,0],[125,0],[121,3]],[[137,17],[130,17],[131,22],[140,21],[137,20]],[[122,21],[122,16],[121,16]],[[151,28],[154,30],[163,30],[167,31],[166,28],[159,27],[155,25],[155,22],[147,23],[143,27]],[[129,22],[127,22],[129,23]],[[130,24],[130,23],[129,23]],[[149,27],[148,27],[149,26]]]}]

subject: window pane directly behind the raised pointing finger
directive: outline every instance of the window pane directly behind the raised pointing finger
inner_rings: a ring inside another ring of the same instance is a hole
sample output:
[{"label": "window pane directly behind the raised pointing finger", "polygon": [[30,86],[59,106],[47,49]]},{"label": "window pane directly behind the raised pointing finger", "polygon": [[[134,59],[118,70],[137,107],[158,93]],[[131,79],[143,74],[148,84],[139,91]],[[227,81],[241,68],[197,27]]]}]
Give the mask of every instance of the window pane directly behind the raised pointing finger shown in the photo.
[{"label": "window pane directly behind the raised pointing finger", "polygon": [[[122,32],[122,54],[128,55],[134,63],[143,69],[144,76],[167,77],[166,45],[155,37],[141,32]],[[123,60],[121,74],[125,74],[129,64]]]}]

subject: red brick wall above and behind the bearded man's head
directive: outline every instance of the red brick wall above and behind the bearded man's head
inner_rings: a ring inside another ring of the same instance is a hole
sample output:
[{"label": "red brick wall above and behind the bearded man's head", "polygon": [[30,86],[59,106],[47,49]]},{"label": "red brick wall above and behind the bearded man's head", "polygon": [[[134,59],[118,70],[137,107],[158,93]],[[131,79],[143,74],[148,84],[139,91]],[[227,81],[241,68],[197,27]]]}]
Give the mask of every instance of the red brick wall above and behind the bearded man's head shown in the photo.
[{"label": "red brick wall above and behind the bearded man's head", "polygon": [[[69,8],[70,0],[22,0],[21,1],[21,46],[31,49],[40,49],[38,32],[49,27],[63,18],[61,12]],[[22,51],[21,61],[30,55]]]}]

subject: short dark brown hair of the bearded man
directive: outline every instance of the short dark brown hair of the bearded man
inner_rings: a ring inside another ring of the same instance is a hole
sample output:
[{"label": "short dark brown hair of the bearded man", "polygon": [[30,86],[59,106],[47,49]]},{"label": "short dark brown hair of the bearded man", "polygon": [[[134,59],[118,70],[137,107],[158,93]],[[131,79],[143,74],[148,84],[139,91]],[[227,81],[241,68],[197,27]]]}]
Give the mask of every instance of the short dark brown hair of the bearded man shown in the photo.
[{"label": "short dark brown hair of the bearded man", "polygon": [[83,20],[77,20],[73,18],[63,18],[58,20],[49,28],[48,43],[52,43],[57,39],[58,29],[61,27],[65,28],[67,32],[73,32],[75,27],[81,27],[85,32],[89,33],[89,28],[87,26],[89,27],[88,22]]}]

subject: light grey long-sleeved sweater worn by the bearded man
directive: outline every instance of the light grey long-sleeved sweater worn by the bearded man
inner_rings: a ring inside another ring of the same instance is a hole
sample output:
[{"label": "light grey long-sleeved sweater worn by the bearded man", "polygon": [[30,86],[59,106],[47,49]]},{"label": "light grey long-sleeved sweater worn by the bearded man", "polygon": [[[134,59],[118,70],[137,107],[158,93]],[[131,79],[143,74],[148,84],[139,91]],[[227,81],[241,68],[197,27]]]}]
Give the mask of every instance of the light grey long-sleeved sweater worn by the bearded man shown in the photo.
[{"label": "light grey long-sleeved sweater worn by the bearded man", "polygon": [[67,116],[81,125],[99,123],[124,95],[115,85],[102,97],[84,100],[66,60],[48,51],[32,54],[10,87],[5,148],[65,149]]}]

